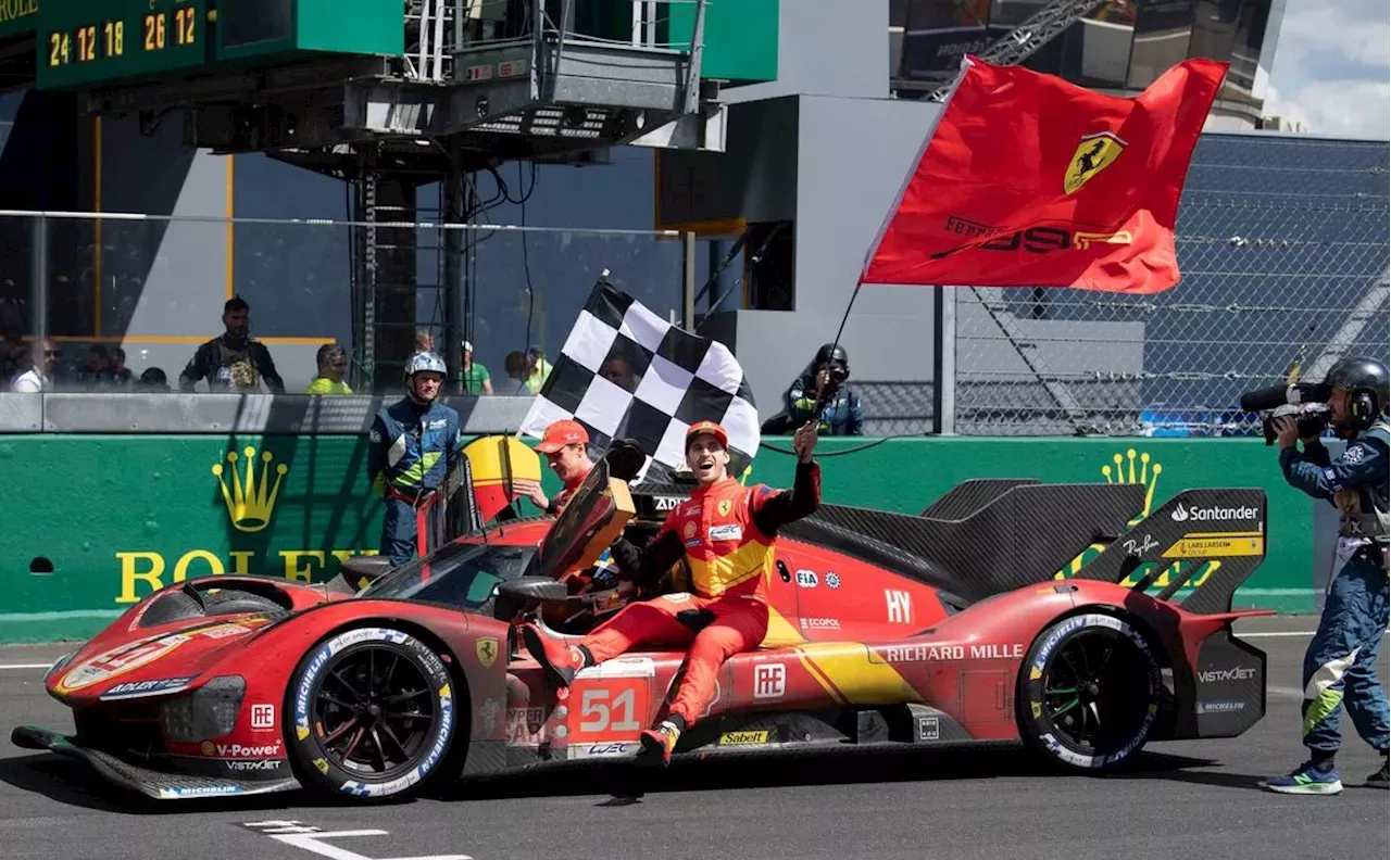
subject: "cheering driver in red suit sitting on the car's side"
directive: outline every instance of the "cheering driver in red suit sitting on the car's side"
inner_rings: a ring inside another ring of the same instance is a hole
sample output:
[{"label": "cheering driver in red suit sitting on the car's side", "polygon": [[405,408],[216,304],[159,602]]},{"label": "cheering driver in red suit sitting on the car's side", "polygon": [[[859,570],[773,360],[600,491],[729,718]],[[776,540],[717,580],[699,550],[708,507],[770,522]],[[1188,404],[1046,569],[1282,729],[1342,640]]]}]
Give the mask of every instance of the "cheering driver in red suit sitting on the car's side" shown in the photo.
[{"label": "cheering driver in red suit sitting on the car's side", "polygon": [[790,492],[765,485],[746,488],[730,478],[727,445],[719,424],[694,424],[686,433],[686,461],[698,488],[666,515],[645,550],[638,552],[626,539],[613,545],[619,570],[640,584],[654,582],[684,554],[693,595],[662,595],[630,604],[574,646],[547,636],[536,624],[522,627],[527,650],[561,686],[568,686],[580,670],[638,645],[689,643],[684,677],[669,716],[641,734],[644,753],[662,767],[670,763],[682,731],[709,703],[719,667],[733,654],[758,647],[768,632],[768,581],[778,529],[821,503],[821,467],[811,458],[815,421],[794,435],[797,472]]}]

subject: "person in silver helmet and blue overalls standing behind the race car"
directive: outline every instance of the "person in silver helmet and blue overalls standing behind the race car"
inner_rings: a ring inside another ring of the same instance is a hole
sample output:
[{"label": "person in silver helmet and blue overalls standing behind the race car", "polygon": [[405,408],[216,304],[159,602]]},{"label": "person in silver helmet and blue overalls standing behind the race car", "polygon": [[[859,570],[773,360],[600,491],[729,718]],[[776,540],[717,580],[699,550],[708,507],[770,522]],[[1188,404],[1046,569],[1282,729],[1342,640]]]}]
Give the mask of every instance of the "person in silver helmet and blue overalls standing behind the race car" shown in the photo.
[{"label": "person in silver helmet and blue overalls standing behind the race car", "polygon": [[383,407],[367,433],[367,475],[385,499],[380,553],[392,567],[416,550],[416,508],[459,461],[459,413],[438,402],[448,368],[434,353],[406,361],[406,396]]}]

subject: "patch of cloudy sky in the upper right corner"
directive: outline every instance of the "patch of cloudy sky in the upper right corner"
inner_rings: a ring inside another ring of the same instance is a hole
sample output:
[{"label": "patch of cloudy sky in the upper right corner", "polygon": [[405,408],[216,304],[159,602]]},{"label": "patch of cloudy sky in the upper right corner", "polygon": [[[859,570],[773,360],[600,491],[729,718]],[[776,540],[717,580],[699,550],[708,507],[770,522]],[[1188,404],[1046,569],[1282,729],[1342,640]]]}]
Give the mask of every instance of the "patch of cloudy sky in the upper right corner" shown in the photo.
[{"label": "patch of cloudy sky in the upper right corner", "polygon": [[1266,115],[1391,138],[1391,0],[1288,0]]}]

